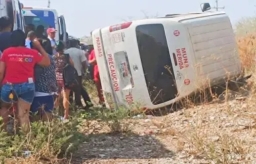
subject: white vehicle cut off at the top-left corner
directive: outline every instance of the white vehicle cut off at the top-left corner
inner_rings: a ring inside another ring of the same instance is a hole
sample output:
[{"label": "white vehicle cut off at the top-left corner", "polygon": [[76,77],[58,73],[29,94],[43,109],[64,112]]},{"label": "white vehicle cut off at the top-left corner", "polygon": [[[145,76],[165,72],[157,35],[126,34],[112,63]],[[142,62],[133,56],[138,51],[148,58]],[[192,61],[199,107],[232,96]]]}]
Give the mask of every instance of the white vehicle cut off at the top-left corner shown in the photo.
[{"label": "white vehicle cut off at the top-left corner", "polygon": [[13,19],[13,30],[25,31],[22,15],[22,3],[19,0],[0,0],[0,17],[9,16]]}]

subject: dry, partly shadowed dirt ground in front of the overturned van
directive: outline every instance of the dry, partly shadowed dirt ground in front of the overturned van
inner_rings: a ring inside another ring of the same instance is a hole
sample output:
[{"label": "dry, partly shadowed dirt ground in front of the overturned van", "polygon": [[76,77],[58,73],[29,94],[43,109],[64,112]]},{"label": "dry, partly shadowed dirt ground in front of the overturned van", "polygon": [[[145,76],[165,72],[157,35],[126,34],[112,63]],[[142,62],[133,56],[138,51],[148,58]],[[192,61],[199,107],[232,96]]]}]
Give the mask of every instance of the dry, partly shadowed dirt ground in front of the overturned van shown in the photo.
[{"label": "dry, partly shadowed dirt ground in front of the overturned van", "polygon": [[136,126],[126,135],[90,121],[71,163],[256,163],[255,100],[237,97],[132,119]]}]

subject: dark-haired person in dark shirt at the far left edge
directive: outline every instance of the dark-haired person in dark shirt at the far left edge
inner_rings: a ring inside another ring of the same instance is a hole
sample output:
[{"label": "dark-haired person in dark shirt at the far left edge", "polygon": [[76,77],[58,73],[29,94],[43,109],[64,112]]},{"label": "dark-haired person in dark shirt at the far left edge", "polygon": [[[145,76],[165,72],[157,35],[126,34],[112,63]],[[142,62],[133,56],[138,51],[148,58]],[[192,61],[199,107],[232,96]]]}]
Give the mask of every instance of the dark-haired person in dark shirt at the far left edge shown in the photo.
[{"label": "dark-haired person in dark shirt at the far left edge", "polygon": [[0,18],[0,51],[2,53],[5,49],[11,47],[12,26],[12,21],[8,16]]}]

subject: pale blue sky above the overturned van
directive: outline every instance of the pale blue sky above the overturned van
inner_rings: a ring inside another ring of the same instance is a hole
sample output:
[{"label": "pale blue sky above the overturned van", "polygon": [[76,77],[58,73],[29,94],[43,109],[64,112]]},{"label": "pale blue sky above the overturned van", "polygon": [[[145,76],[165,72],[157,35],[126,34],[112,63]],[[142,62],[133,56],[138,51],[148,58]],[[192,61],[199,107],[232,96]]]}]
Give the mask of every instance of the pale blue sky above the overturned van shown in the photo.
[{"label": "pale blue sky above the overturned van", "polygon": [[[47,7],[48,0],[20,0],[26,7]],[[233,3],[231,3],[233,1]],[[200,11],[200,3],[208,2],[212,7],[215,0],[51,0],[50,7],[64,14],[67,32],[76,37],[89,36],[96,28],[118,24],[124,20],[148,16],[164,16],[171,13]],[[220,0],[232,24],[242,17],[256,16],[255,0]],[[214,9],[212,9],[214,10]],[[256,30],[256,29],[255,29]]]}]

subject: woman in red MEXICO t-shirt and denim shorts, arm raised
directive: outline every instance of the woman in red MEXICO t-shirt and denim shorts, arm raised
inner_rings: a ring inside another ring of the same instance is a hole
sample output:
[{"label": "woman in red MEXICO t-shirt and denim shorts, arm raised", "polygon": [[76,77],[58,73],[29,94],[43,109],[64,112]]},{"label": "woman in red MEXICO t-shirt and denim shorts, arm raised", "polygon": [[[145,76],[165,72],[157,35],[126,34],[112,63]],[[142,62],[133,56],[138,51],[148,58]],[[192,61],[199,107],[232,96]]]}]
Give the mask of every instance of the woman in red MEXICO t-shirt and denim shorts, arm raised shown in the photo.
[{"label": "woman in red MEXICO t-shirt and denim shorts, arm raised", "polygon": [[37,40],[33,46],[38,49],[25,47],[26,35],[22,30],[15,30],[11,34],[11,47],[5,49],[0,59],[1,109],[4,128],[9,121],[9,108],[17,103],[19,124],[24,132],[29,127],[29,110],[34,99],[34,66],[36,64],[48,67],[48,54]]}]

